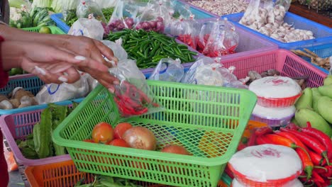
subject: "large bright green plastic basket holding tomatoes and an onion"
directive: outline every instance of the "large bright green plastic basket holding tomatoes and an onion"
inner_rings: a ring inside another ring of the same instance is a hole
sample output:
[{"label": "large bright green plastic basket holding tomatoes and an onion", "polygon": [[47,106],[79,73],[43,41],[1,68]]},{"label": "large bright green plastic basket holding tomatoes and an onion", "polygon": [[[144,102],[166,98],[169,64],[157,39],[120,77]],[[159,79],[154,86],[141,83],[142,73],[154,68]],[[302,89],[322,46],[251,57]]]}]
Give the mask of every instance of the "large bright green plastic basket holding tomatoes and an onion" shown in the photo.
[{"label": "large bright green plastic basket holding tomatoes and an onion", "polygon": [[[79,171],[171,186],[217,186],[253,111],[255,94],[165,81],[149,80],[148,85],[165,111],[121,118],[114,95],[98,86],[55,130],[53,141],[67,148]],[[150,129],[157,151],[83,142],[101,121]],[[192,155],[160,152],[169,144],[182,145]]]}]

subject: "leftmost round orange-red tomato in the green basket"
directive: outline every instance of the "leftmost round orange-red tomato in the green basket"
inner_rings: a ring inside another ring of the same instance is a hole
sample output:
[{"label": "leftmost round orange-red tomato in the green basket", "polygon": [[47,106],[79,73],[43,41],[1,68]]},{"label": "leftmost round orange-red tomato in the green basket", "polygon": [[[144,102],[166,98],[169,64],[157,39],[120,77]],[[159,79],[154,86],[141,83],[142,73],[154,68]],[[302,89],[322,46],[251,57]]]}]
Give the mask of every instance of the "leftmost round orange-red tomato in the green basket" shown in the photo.
[{"label": "leftmost round orange-red tomato in the green basket", "polygon": [[106,143],[114,138],[114,130],[109,123],[101,122],[92,130],[92,140],[96,143]]}]

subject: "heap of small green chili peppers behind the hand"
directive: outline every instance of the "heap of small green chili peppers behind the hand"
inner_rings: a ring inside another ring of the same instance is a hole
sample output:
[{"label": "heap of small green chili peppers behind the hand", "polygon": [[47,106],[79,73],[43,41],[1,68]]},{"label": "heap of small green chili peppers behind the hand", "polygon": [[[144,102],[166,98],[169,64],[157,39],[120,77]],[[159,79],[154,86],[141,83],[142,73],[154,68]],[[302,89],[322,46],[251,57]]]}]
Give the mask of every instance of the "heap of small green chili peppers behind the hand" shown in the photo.
[{"label": "heap of small green chili peppers behind the hand", "polygon": [[197,55],[187,45],[179,44],[174,38],[155,31],[125,29],[110,33],[107,37],[110,41],[120,38],[128,57],[136,60],[140,69],[155,67],[162,58],[169,57],[179,58],[182,63],[193,62],[194,55]]}]

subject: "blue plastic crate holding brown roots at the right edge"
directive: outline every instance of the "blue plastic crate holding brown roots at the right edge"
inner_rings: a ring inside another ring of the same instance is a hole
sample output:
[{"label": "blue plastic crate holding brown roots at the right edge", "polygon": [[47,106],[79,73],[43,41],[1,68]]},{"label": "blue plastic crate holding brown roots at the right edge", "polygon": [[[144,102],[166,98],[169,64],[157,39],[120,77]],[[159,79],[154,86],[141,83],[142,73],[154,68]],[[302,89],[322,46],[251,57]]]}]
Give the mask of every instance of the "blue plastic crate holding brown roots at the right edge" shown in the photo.
[{"label": "blue plastic crate holding brown roots at the right edge", "polygon": [[[304,47],[299,47],[296,50],[303,50]],[[306,47],[306,49],[311,50],[312,52],[316,53],[321,58],[326,58],[326,57],[331,57],[332,56],[332,40],[330,41],[329,44],[326,45],[319,45],[319,46],[314,46],[314,47]],[[310,62],[309,57],[301,57],[307,62]],[[316,68],[321,69],[321,71],[325,72],[328,74],[328,70],[323,69],[322,67],[317,66],[316,64],[313,64]]]}]

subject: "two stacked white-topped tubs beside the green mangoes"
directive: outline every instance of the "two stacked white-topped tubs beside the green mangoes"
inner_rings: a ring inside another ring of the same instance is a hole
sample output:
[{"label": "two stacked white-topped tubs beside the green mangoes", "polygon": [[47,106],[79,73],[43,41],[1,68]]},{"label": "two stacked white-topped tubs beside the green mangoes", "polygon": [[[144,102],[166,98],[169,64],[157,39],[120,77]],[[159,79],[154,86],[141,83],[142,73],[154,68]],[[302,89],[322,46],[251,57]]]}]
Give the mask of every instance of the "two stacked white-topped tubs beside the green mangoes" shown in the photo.
[{"label": "two stacked white-topped tubs beside the green mangoes", "polygon": [[289,77],[264,77],[253,81],[249,90],[258,96],[251,119],[267,123],[272,128],[287,125],[301,96],[301,87]]}]

